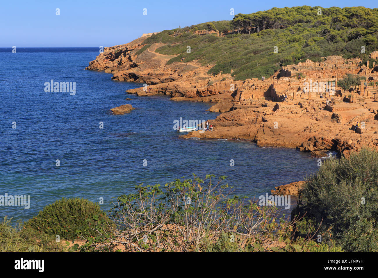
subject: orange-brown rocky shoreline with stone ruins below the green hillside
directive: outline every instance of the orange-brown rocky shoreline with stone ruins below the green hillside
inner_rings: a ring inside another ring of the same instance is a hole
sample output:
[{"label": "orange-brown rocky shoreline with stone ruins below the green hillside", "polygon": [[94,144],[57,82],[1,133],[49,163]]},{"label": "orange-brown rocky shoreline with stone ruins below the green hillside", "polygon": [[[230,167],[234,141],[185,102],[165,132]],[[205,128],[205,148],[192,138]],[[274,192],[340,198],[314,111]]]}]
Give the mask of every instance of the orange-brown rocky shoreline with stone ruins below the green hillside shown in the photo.
[{"label": "orange-brown rocky shoreline with stone ruins below the green hillside", "polygon": [[[369,70],[359,65],[359,59],[329,56],[320,63],[307,60],[288,65],[264,81],[234,81],[230,74],[208,75],[213,65],[197,61],[167,64],[175,56],[157,53],[155,50],[164,43],[147,45],[147,37],[105,48],[87,69],[112,73],[113,80],[146,84],[128,90],[129,94],[162,94],[177,101],[214,102],[209,111],[222,113],[210,120],[214,131],[195,131],[182,138],[251,140],[258,146],[297,148],[316,157],[324,157],[328,151],[348,157],[363,146],[378,148],[378,121],[374,118],[378,111],[377,67]],[[297,73],[301,73],[302,79],[297,78]],[[337,80],[348,73],[373,80],[373,85],[361,82],[345,93],[337,86]],[[307,90],[306,82],[314,81],[335,81],[335,88],[320,98],[319,90]],[[333,98],[333,105],[327,105],[326,98]],[[122,109],[113,113],[119,111]],[[351,129],[357,121],[363,123],[363,134]]]}]

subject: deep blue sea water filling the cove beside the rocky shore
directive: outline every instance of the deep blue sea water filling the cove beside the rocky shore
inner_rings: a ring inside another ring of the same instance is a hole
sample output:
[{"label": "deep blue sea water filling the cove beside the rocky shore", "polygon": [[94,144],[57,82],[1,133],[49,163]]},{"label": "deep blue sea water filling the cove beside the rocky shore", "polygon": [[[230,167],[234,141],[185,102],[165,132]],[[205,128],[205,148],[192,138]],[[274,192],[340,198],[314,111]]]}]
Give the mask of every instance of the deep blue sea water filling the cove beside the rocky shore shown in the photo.
[{"label": "deep blue sea water filling the cove beside the rocky shore", "polygon": [[[84,70],[98,54],[98,48],[0,48],[0,195],[30,195],[29,209],[0,206],[1,218],[26,221],[62,197],[104,198],[107,210],[112,197],[136,184],[164,185],[192,173],[226,175],[235,194],[259,196],[318,169],[316,159],[293,149],[178,138],[174,120],[214,119],[218,113],[206,112],[211,104],[126,95],[141,84]],[[51,79],[76,82],[76,94],[46,93]],[[121,104],[136,109],[112,115],[109,109]]]}]

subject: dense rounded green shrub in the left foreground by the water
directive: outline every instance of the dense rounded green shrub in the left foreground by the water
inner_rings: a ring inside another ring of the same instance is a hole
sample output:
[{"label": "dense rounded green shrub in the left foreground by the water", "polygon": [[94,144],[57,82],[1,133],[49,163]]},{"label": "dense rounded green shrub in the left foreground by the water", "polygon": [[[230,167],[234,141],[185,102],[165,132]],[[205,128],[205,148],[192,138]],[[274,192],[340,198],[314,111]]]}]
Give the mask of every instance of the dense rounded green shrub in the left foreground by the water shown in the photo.
[{"label": "dense rounded green shrub in the left foreground by the water", "polygon": [[80,231],[91,236],[93,233],[89,227],[96,227],[99,220],[106,218],[98,204],[86,199],[62,198],[43,208],[24,227],[25,230],[32,229],[40,235],[59,235],[60,239],[74,240]]}]

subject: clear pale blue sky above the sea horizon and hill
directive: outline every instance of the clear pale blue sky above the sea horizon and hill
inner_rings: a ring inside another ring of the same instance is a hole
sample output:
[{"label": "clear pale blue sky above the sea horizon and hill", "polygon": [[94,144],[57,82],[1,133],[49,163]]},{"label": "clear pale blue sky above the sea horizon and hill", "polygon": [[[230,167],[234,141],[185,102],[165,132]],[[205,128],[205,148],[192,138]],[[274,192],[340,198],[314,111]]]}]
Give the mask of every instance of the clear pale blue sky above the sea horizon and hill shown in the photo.
[{"label": "clear pale blue sky above the sea horizon and hill", "polygon": [[[99,47],[130,42],[143,33],[231,20],[235,14],[285,6],[377,7],[376,0],[336,1],[2,1],[0,47]],[[56,8],[60,15],[56,15]],[[143,16],[143,9],[147,16]]]}]

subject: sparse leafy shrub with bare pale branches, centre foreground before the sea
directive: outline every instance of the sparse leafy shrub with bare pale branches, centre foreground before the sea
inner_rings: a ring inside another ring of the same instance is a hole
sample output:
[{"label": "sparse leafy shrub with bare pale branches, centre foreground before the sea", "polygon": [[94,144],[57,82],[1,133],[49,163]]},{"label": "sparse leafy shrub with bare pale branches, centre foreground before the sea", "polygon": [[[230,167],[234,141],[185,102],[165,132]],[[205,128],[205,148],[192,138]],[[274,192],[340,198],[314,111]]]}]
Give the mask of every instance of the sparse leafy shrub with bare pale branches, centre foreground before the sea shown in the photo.
[{"label": "sparse leafy shrub with bare pale branches, centre foreground before the sea", "polygon": [[[293,224],[279,217],[274,206],[259,207],[254,200],[232,196],[232,188],[201,180],[177,179],[160,185],[136,186],[122,195],[103,221],[98,236],[88,239],[82,251],[225,252],[306,251],[312,236],[292,242]],[[112,225],[116,223],[115,225]],[[78,246],[76,246],[77,248]]]}]

